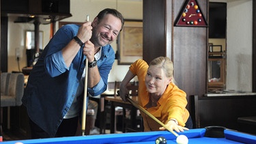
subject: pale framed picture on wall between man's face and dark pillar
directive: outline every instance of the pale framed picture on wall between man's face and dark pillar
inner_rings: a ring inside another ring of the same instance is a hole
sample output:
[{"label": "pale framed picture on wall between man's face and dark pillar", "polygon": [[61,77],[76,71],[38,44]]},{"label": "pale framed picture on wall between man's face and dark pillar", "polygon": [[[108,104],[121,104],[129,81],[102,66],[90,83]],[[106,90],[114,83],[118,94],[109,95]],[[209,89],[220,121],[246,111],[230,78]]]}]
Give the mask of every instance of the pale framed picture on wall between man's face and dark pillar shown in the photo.
[{"label": "pale framed picture on wall between man's face and dark pillar", "polygon": [[142,59],[143,23],[142,20],[125,20],[124,29],[117,39],[118,65],[130,65]]}]

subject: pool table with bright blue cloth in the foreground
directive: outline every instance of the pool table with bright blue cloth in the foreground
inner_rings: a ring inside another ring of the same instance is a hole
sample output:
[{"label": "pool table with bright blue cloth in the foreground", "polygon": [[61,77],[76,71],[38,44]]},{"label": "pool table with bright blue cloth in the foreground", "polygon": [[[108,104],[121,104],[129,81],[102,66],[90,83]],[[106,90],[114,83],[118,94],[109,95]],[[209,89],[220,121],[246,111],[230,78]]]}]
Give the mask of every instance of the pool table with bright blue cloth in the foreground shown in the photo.
[{"label": "pool table with bright blue cloth in the foreground", "polygon": [[[205,128],[191,129],[178,134],[184,134],[188,137],[188,144],[191,143],[256,143],[256,136],[251,134],[245,134],[234,130],[223,130],[223,138],[212,138],[205,136]],[[51,139],[33,139],[23,141],[3,141],[1,144],[17,142],[20,143],[155,143],[158,136],[164,136],[167,139],[167,144],[176,143],[176,137],[168,131],[156,131],[156,132],[128,132],[122,134],[101,134],[101,135],[88,135],[88,136],[70,136],[63,138],[51,138]]]}]

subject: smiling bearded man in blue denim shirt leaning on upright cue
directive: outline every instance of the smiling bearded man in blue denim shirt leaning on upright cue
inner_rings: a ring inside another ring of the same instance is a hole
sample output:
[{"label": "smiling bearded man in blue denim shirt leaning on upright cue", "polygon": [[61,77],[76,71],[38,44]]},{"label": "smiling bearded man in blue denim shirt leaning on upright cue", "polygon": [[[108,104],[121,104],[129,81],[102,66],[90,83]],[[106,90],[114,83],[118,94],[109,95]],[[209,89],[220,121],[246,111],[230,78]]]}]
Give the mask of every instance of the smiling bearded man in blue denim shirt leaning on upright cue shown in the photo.
[{"label": "smiling bearded man in blue denim shirt leaning on upright cue", "polygon": [[64,25],[38,59],[23,96],[31,125],[31,138],[74,136],[83,107],[85,59],[91,96],[106,90],[115,60],[111,47],[124,26],[122,14],[102,10],[92,22]]}]

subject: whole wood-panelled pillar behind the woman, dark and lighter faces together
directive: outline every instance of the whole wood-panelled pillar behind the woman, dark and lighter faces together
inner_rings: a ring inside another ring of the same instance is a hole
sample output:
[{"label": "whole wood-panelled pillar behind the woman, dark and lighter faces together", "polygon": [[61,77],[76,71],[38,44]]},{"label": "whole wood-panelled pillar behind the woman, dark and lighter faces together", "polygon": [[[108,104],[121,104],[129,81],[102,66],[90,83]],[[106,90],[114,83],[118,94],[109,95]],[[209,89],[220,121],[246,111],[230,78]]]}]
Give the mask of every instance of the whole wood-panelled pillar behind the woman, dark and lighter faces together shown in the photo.
[{"label": "whole wood-panelled pillar behind the woman, dark and lighter faces together", "polygon": [[[204,16],[208,1],[198,0]],[[170,57],[174,77],[187,96],[206,93],[207,27],[174,27],[184,1],[143,1],[143,59]],[[188,104],[188,109],[190,104]]]}]

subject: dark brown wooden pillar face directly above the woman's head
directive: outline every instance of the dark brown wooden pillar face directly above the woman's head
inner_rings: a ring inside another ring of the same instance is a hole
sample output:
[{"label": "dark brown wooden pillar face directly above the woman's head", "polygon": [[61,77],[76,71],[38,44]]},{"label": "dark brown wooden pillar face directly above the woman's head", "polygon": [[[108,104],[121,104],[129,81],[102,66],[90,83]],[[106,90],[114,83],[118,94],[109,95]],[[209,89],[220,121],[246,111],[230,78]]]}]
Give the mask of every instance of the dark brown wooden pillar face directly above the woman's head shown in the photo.
[{"label": "dark brown wooden pillar face directly above the woman's head", "polygon": [[143,59],[165,56],[165,1],[143,1]]}]

